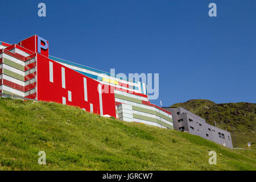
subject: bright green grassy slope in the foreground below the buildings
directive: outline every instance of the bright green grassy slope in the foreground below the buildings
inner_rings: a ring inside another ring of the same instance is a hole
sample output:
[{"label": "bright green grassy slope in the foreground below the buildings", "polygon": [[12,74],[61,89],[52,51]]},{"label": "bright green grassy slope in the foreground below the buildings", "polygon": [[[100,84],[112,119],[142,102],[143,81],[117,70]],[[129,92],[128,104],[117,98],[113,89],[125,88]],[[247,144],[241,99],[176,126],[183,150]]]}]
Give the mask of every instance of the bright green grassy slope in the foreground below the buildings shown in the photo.
[{"label": "bright green grassy slope in the foreground below the buildings", "polygon": [[[216,165],[208,163],[212,150]],[[77,107],[0,98],[0,170],[11,169],[255,170],[256,153]]]}]

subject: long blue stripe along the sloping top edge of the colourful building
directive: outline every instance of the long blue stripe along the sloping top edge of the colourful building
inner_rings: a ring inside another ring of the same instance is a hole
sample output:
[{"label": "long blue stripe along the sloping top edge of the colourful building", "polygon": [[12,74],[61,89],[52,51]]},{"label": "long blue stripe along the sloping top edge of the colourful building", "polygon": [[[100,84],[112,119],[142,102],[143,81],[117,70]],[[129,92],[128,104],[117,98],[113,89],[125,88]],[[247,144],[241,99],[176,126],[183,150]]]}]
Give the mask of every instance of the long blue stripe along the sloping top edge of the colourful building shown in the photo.
[{"label": "long blue stripe along the sloping top edge of the colourful building", "polygon": [[[88,69],[89,71],[93,71],[93,72],[97,72],[97,73],[103,73],[103,74],[108,75],[108,76],[110,76],[110,77],[115,77],[115,78],[119,78],[120,80],[125,80],[125,81],[131,82],[128,78],[124,78],[124,77],[112,75],[112,74],[110,74],[110,73],[108,73],[108,72],[104,72],[104,71],[100,71],[100,70],[98,70],[98,69],[86,67],[86,66],[84,66],[84,65],[80,65],[80,64],[73,63],[73,62],[71,62],[71,61],[66,61],[66,60],[63,60],[63,59],[59,59],[59,58],[57,58],[57,57],[49,56],[49,59],[56,60],[56,61],[59,61],[59,62],[61,62],[61,63],[73,65],[73,66],[75,66],[75,67],[80,67],[80,68]],[[136,84],[138,84],[138,81],[133,80],[133,82],[135,82]]]}]

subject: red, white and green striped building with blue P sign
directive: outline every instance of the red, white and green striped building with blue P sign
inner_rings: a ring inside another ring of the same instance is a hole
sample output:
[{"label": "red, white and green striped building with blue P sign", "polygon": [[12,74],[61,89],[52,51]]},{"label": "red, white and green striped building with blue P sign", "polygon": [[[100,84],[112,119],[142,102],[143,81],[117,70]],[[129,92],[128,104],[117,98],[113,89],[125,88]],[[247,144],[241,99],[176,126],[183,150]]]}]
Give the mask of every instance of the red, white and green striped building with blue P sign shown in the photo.
[{"label": "red, white and green striped building with blue P sign", "polygon": [[173,129],[171,113],[148,101],[146,84],[49,56],[48,45],[38,35],[17,44],[0,42],[0,94]]}]

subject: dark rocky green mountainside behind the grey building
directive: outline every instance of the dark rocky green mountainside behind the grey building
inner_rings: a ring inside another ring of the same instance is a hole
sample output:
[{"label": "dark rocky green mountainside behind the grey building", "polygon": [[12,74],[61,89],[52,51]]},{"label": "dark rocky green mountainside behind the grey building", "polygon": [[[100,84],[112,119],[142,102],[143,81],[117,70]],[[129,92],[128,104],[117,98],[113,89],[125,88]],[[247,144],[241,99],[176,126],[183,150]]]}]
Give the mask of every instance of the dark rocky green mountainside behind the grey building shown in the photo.
[{"label": "dark rocky green mountainside behind the grey building", "polygon": [[251,142],[255,149],[256,142],[256,104],[247,102],[216,104],[209,100],[189,100],[171,107],[184,107],[204,118],[208,123],[228,130],[232,136],[233,146],[246,147]]}]

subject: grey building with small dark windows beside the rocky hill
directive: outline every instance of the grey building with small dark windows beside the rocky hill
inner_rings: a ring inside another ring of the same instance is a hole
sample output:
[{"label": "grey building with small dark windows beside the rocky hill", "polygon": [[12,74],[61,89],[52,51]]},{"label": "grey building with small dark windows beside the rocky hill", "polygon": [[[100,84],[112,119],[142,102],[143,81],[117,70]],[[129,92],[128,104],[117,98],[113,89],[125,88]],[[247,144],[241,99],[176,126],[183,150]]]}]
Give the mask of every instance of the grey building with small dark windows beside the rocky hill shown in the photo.
[{"label": "grey building with small dark windows beside the rocky hill", "polygon": [[232,138],[228,131],[209,125],[205,119],[189,112],[183,107],[163,107],[172,113],[172,122],[175,130],[185,131],[198,135],[223,146],[233,148]]}]

